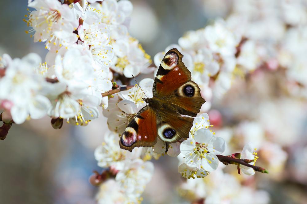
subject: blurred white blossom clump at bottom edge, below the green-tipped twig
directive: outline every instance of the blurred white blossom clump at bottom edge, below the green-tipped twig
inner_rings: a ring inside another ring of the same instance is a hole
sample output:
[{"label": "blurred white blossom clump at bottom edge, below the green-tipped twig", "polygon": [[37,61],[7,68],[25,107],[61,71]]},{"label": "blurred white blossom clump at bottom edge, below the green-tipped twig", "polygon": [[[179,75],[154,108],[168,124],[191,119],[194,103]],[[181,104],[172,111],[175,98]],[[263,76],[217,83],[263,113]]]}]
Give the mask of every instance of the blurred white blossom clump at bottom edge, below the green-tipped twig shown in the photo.
[{"label": "blurred white blossom clump at bottom edge, below the green-tipped twig", "polygon": [[252,187],[241,186],[235,176],[224,173],[222,168],[218,168],[204,179],[188,179],[177,188],[177,191],[191,202],[205,200],[199,203],[206,204],[267,204],[270,201],[266,191],[255,191]]}]

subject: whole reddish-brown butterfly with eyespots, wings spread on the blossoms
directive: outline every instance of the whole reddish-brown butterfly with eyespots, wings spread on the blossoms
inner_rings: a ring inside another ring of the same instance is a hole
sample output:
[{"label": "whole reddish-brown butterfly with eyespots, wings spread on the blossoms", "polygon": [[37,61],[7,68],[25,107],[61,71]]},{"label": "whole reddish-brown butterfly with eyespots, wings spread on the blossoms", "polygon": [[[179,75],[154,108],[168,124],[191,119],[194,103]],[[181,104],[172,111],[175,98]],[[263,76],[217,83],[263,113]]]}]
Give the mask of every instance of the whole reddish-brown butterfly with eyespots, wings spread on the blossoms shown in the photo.
[{"label": "whole reddish-brown butterfly with eyespots, wings spread on the blossoms", "polygon": [[153,97],[143,98],[148,105],[127,125],[119,139],[120,148],[131,152],[134,147],[155,145],[157,137],[165,143],[189,137],[192,117],[206,101],[198,85],[191,81],[191,72],[182,57],[176,48],[165,54],[153,82]]}]

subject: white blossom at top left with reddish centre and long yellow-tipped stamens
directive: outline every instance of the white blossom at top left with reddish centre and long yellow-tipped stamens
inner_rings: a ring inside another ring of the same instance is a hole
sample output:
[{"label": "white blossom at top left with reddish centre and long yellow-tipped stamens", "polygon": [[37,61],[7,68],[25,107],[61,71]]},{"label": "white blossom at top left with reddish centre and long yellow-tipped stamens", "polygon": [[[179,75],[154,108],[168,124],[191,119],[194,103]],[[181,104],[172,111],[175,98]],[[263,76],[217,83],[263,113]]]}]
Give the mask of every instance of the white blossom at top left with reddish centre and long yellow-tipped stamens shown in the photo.
[{"label": "white blossom at top left with reddish centre and long yellow-tipped stamens", "polygon": [[55,52],[77,41],[73,31],[79,23],[67,4],[56,0],[34,0],[28,6],[37,9],[30,13],[29,21],[26,21],[35,31],[34,42],[47,41],[46,48]]}]

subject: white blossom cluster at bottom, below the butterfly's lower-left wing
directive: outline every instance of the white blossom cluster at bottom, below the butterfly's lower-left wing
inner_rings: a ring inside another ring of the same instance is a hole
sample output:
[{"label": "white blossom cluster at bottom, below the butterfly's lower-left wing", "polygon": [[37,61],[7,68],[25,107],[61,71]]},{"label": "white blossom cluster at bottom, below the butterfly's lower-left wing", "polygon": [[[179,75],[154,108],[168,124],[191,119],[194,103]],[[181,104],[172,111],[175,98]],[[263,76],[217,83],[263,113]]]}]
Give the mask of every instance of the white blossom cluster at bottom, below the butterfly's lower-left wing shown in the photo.
[{"label": "white blossom cluster at bottom, below the butterfly's lower-left wing", "polygon": [[134,148],[131,153],[120,149],[119,137],[115,132],[104,135],[104,142],[95,150],[95,159],[100,167],[110,168],[116,177],[100,187],[97,195],[99,203],[138,203],[142,200],[140,196],[154,169],[153,163],[142,157],[145,152],[146,148]]}]

